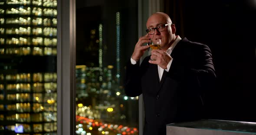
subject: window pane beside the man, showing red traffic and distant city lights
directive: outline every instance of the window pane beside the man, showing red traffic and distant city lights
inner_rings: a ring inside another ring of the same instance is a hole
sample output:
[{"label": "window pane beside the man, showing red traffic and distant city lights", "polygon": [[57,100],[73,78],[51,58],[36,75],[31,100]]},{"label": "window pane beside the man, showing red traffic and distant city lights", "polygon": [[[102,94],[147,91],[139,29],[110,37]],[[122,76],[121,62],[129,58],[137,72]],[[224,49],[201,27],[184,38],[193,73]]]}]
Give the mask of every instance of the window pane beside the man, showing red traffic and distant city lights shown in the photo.
[{"label": "window pane beside the man, showing red traffic and distant city lights", "polygon": [[76,133],[138,135],[125,63],[138,40],[137,0],[76,1]]}]

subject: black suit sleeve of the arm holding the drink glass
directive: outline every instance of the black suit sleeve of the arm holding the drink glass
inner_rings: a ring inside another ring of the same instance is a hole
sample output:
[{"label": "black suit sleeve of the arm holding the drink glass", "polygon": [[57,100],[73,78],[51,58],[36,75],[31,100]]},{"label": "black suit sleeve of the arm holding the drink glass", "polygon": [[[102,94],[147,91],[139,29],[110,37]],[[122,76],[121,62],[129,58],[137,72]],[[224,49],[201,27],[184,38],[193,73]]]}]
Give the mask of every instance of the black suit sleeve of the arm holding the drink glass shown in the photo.
[{"label": "black suit sleeve of the arm holding the drink glass", "polygon": [[[187,44],[180,51],[178,57],[174,57],[170,71],[172,76],[178,80],[187,81],[188,84],[207,85],[215,80],[215,69],[213,65],[210,48],[203,44]],[[181,50],[181,49],[180,49]]]}]

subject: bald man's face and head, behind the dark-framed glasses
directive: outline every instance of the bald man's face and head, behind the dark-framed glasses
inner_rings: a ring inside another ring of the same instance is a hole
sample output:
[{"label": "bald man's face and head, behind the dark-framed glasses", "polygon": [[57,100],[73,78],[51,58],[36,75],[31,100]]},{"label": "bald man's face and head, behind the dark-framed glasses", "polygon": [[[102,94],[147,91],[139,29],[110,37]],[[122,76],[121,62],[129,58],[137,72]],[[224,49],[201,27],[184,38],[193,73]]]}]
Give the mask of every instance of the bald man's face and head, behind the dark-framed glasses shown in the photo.
[{"label": "bald man's face and head, behind the dark-framed glasses", "polygon": [[[161,14],[153,14],[148,18],[147,21],[147,29],[149,28],[155,28],[160,25],[168,24],[170,22],[167,22],[167,18]],[[150,39],[161,39],[161,49],[168,49],[170,47],[170,42],[174,40],[174,34],[172,34],[171,25],[165,26],[164,31],[158,32],[157,29],[155,29],[153,35],[149,35]]]}]

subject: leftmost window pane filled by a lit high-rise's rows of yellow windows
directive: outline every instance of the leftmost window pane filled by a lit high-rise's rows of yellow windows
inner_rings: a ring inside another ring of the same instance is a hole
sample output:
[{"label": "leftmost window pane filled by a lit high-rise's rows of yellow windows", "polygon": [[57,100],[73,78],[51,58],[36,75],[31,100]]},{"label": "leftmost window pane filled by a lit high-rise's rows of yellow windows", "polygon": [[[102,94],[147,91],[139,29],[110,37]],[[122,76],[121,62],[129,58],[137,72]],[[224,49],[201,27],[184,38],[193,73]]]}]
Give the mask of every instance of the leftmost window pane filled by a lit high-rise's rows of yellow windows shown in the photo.
[{"label": "leftmost window pane filled by a lit high-rise's rows of yellow windows", "polygon": [[56,135],[56,0],[0,0],[0,135]]}]

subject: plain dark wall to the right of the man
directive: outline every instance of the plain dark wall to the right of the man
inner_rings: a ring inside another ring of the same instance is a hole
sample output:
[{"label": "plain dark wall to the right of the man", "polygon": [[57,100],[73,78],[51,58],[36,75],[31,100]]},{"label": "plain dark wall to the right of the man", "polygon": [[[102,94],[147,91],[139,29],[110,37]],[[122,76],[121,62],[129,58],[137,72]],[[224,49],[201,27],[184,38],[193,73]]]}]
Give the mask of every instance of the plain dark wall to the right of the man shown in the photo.
[{"label": "plain dark wall to the right of the man", "polygon": [[177,34],[209,45],[217,74],[207,117],[256,122],[256,2],[166,0]]}]

